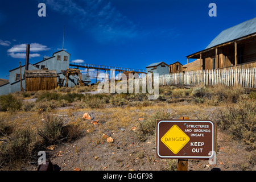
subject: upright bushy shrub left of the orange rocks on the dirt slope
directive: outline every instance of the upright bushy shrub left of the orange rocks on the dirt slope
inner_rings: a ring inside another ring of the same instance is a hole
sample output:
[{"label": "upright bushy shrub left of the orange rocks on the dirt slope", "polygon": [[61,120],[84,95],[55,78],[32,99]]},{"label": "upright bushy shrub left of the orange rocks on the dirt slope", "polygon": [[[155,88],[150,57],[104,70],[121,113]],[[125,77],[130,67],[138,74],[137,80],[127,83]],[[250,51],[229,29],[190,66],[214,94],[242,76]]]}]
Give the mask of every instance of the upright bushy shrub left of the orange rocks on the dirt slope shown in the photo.
[{"label": "upright bushy shrub left of the orange rocks on the dirt slope", "polygon": [[61,138],[61,129],[63,126],[63,118],[47,114],[42,128],[38,129],[38,135],[43,138],[43,142],[46,144],[58,142]]}]

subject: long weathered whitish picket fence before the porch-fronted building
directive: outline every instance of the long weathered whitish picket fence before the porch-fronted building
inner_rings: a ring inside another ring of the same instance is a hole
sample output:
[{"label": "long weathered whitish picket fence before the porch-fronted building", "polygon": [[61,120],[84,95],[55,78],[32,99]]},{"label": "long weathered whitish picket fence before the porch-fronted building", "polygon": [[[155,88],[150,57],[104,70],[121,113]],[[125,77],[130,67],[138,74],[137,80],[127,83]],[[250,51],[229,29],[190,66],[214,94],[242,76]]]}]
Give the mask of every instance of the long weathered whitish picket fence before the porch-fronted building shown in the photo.
[{"label": "long weathered whitish picket fence before the porch-fronted building", "polygon": [[159,76],[159,85],[241,85],[256,88],[256,67],[188,71]]}]

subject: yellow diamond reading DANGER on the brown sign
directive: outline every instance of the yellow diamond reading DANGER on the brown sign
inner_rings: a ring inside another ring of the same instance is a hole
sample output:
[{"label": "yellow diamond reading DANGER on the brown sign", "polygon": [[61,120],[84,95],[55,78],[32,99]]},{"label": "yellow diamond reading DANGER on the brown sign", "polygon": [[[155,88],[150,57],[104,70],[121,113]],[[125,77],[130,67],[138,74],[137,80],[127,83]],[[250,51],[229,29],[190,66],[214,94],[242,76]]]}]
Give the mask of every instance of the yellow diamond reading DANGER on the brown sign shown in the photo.
[{"label": "yellow diamond reading DANGER on the brown sign", "polygon": [[177,154],[189,141],[186,135],[177,125],[171,127],[166,134],[163,135],[161,141],[172,151]]}]

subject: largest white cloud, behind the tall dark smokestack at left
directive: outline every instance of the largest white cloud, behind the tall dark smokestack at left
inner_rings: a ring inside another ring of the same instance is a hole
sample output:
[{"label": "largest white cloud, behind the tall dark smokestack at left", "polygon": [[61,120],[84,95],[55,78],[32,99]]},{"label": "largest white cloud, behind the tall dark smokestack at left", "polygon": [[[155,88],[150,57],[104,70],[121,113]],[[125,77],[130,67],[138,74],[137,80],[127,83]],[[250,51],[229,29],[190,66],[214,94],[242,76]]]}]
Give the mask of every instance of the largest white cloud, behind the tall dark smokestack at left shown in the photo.
[{"label": "largest white cloud, behind the tall dark smokestack at left", "polygon": [[[7,50],[8,55],[13,57],[13,58],[25,58],[26,57],[26,52],[27,49],[27,44],[17,44],[11,47],[10,49]],[[43,46],[42,44],[39,43],[31,43],[30,44],[30,52],[40,52],[40,51],[48,51],[51,48],[48,48],[47,46]],[[39,53],[30,53],[30,57],[39,57]]]}]

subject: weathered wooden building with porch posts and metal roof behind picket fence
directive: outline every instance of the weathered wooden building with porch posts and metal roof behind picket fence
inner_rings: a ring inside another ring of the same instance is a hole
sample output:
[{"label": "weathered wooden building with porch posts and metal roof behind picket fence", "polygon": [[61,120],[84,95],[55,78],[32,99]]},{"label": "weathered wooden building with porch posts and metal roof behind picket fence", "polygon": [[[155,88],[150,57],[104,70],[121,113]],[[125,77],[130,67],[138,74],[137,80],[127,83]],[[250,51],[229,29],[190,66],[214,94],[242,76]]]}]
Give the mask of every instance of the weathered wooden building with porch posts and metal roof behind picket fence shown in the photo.
[{"label": "weathered wooden building with porch posts and metal roof behind picket fence", "polygon": [[200,59],[200,70],[256,65],[256,18],[222,31],[203,50],[187,56]]}]

